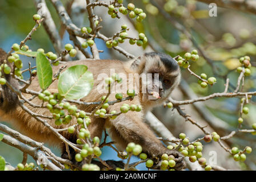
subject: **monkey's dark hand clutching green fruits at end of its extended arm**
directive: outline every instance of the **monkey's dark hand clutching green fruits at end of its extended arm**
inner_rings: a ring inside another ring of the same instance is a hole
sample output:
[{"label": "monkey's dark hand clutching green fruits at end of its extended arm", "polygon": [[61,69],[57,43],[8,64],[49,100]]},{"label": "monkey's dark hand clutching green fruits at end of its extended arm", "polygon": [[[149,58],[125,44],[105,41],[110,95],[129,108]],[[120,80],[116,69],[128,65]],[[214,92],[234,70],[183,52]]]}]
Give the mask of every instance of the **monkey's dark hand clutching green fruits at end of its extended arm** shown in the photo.
[{"label": "monkey's dark hand clutching green fruits at end of its extended arm", "polygon": [[[186,163],[183,161],[184,156],[177,150],[166,150],[163,154],[167,154],[169,159],[173,159],[175,161],[175,166],[173,167],[175,170],[180,171],[186,167]],[[155,162],[154,166],[151,167],[152,169],[161,169],[161,156],[160,159]]]}]

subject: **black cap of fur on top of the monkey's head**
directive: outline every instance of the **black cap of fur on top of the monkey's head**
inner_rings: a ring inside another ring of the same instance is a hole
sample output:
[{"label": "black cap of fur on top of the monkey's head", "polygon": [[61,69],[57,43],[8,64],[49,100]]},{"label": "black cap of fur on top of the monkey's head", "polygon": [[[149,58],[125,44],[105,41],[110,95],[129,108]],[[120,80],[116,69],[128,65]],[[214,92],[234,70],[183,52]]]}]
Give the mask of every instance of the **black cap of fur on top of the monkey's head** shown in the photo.
[{"label": "black cap of fur on top of the monkey's head", "polygon": [[177,69],[179,69],[179,65],[177,64],[177,61],[175,61],[173,59],[173,57],[171,57],[170,55],[166,55],[165,53],[161,53],[161,52],[148,52],[145,53],[145,56],[158,56],[159,59],[162,61],[162,63],[165,65],[166,68],[169,68],[169,71],[176,71]]}]

